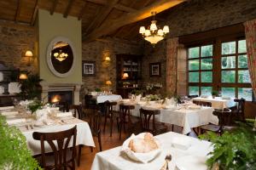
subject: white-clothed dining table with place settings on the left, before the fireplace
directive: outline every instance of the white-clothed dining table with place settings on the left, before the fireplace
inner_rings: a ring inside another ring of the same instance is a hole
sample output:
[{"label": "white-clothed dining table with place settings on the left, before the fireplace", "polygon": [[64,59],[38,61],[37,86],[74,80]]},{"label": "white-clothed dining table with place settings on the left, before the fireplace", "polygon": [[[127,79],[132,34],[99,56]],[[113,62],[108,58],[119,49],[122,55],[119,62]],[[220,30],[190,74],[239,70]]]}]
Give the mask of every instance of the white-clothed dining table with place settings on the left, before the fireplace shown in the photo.
[{"label": "white-clothed dining table with place settings on the left, before the fireplace", "polygon": [[[10,127],[18,127],[26,138],[26,144],[32,155],[41,154],[41,144],[39,140],[32,137],[32,133],[55,133],[65,131],[74,126],[77,127],[76,145],[95,147],[95,143],[90,131],[88,122],[73,117],[72,112],[56,111],[54,116],[47,116],[47,119],[38,122],[35,115],[17,111],[15,107],[0,108],[0,115],[6,117],[6,122]],[[73,141],[72,139],[70,141]],[[72,146],[72,142],[69,143]],[[45,144],[45,152],[51,152],[49,144]]]}]

